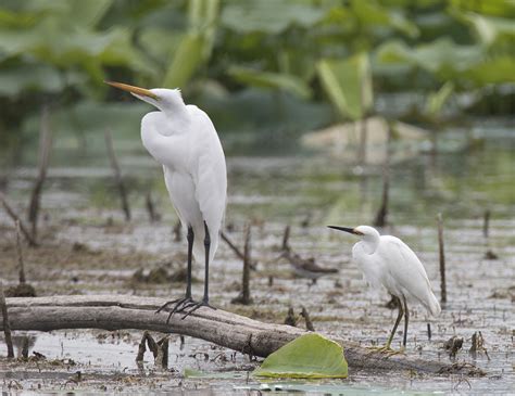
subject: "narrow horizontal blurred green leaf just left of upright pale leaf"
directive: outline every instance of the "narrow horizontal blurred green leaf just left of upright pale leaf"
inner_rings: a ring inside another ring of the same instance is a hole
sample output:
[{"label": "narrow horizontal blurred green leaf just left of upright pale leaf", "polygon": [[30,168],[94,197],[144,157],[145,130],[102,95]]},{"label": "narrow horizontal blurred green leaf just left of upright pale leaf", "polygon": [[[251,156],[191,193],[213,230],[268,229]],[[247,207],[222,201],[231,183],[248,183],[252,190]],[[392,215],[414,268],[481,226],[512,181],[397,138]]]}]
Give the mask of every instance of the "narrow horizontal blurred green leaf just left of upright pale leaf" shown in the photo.
[{"label": "narrow horizontal blurred green leaf just left of upright pale leaf", "polygon": [[228,73],[239,82],[252,87],[282,89],[302,99],[311,97],[310,87],[300,78],[289,74],[260,72],[239,66],[230,67]]}]

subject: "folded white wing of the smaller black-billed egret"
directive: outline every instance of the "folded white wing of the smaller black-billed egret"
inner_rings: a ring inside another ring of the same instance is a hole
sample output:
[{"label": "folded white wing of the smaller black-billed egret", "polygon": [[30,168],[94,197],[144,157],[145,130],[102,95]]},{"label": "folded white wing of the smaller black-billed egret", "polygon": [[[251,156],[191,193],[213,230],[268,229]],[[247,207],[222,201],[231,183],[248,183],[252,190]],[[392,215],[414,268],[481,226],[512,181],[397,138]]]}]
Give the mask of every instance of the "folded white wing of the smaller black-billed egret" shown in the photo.
[{"label": "folded white wing of the smaller black-billed egret", "polygon": [[386,270],[406,297],[415,298],[431,312],[439,310],[426,270],[416,254],[394,237],[381,237],[380,246]]}]

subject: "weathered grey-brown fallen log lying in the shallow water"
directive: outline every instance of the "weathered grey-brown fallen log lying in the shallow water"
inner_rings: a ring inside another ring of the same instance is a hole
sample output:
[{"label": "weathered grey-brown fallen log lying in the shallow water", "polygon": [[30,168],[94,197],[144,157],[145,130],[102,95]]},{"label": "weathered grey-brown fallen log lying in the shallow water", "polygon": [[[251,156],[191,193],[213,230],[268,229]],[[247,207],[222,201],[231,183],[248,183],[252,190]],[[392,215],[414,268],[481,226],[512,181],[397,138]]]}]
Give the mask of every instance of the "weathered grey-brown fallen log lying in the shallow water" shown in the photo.
[{"label": "weathered grey-brown fallen log lying in the shallow water", "polygon": [[[7,298],[11,330],[139,329],[202,338],[217,345],[266,357],[305,331],[284,324],[260,322],[222,309],[200,308],[186,319],[155,314],[162,298],[128,295],[75,295]],[[0,330],[3,330],[0,321]],[[332,337],[332,340],[335,340]],[[351,368],[413,370],[422,373],[483,375],[468,363],[447,363],[405,355],[385,356],[354,343],[342,344]]]}]

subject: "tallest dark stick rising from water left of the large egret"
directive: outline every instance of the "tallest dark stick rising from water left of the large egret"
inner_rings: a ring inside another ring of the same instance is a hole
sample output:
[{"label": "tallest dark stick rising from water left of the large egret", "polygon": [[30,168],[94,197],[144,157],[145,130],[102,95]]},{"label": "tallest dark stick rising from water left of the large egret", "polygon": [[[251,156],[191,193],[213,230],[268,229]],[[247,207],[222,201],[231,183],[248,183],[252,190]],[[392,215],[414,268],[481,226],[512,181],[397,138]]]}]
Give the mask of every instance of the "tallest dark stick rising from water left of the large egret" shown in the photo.
[{"label": "tallest dark stick rising from water left of the large egret", "polygon": [[39,127],[39,170],[38,177],[34,183],[33,194],[30,196],[30,205],[28,207],[28,221],[32,225],[32,235],[37,238],[38,215],[41,202],[41,191],[47,178],[47,168],[52,148],[52,135],[49,123],[49,108],[43,104],[41,108],[41,123]]}]

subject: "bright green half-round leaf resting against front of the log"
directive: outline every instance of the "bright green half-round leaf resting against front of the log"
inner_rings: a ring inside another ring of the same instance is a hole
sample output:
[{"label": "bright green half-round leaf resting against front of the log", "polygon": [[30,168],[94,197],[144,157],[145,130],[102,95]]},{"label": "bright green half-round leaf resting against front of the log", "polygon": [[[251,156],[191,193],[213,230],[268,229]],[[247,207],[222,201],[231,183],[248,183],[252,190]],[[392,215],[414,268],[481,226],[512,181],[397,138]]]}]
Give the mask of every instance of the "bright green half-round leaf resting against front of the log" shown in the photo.
[{"label": "bright green half-round leaf resting against front of the log", "polygon": [[269,355],[253,375],[271,378],[347,378],[343,348],[317,333],[301,335]]}]

